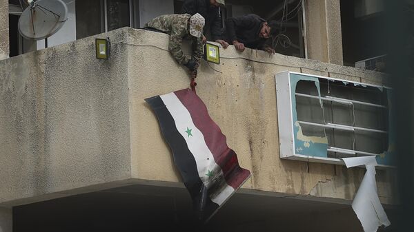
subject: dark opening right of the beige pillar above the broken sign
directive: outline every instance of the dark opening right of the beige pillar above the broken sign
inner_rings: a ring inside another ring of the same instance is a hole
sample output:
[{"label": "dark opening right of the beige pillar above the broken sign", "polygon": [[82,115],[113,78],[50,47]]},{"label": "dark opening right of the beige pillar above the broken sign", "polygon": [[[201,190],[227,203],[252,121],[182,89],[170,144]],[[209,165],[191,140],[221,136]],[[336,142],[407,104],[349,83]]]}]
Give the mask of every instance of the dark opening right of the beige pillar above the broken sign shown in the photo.
[{"label": "dark opening right of the beige pillar above the broken sign", "polygon": [[344,65],[386,72],[384,1],[367,2],[340,1]]}]

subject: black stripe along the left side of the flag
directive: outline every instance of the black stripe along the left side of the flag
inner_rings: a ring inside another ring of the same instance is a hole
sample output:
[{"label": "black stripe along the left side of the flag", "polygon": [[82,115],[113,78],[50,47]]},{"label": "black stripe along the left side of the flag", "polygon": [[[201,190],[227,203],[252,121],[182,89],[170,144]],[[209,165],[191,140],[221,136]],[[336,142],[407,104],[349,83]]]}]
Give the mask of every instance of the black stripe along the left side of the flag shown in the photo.
[{"label": "black stripe along the left side of the flag", "polygon": [[175,165],[177,165],[181,178],[183,178],[184,184],[190,192],[191,198],[193,198],[193,206],[197,211],[197,217],[199,220],[207,220],[210,215],[213,215],[219,209],[219,205],[210,200],[208,190],[199,178],[195,158],[188,149],[186,140],[177,131],[174,119],[159,96],[146,98],[145,101],[158,118],[161,132],[172,150]]}]

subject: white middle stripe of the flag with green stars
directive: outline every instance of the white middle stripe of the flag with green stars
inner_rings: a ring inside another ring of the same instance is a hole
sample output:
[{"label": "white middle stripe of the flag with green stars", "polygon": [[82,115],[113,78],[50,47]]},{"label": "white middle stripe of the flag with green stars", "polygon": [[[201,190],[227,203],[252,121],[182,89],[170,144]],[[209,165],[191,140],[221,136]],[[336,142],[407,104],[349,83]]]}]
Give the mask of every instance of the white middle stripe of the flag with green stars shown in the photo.
[{"label": "white middle stripe of the flag with green stars", "polygon": [[[197,127],[195,127],[188,109],[181,103],[181,101],[179,101],[173,92],[160,95],[159,97],[162,99],[174,119],[177,131],[179,131],[179,134],[181,134],[184,140],[186,140],[188,149],[195,158],[197,171],[204,185],[207,188],[210,187],[212,184],[210,180],[216,179],[214,178],[216,176],[219,176],[217,179],[224,179],[223,171],[215,162],[213,154],[206,145],[203,134]],[[191,129],[191,136],[189,136],[186,132],[188,129]],[[209,172],[213,172],[212,178],[207,176],[207,173]],[[221,205],[233,194],[234,191],[235,189],[226,183],[225,188],[220,189],[220,193],[217,194],[217,196],[212,196],[211,200],[216,204]]]}]

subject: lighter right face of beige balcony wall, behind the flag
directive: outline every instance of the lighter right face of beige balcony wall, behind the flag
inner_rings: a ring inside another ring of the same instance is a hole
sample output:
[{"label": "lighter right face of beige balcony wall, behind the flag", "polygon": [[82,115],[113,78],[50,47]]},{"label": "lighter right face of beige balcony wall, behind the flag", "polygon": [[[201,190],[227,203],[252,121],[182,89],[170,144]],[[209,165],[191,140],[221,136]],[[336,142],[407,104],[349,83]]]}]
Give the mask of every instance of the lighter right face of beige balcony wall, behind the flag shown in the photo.
[{"label": "lighter right face of beige balcony wall, behind the flag", "polygon": [[[128,38],[132,176],[178,181],[168,146],[144,98],[188,87],[188,75],[168,54],[167,35],[130,30]],[[262,51],[240,54],[233,47],[221,50],[220,65],[210,65],[201,64],[197,94],[241,166],[252,172],[245,189],[353,199],[364,169],[279,158],[275,74],[290,70],[378,85],[386,83],[385,76]],[[392,202],[393,171],[380,170],[377,176],[382,200]]]}]

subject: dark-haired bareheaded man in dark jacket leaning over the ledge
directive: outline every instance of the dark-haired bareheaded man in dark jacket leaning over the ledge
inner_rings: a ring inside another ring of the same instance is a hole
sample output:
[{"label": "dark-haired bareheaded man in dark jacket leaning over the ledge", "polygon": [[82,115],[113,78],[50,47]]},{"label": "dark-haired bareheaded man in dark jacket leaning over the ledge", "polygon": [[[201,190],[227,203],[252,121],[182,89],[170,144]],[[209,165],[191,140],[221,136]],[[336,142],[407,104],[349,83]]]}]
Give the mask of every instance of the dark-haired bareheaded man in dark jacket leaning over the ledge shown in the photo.
[{"label": "dark-haired bareheaded man in dark jacket leaning over the ledge", "polygon": [[277,34],[277,23],[259,17],[257,14],[247,14],[242,17],[226,19],[226,28],[223,38],[235,48],[243,52],[244,48],[253,48],[275,53],[275,50],[266,44],[270,36]]}]

